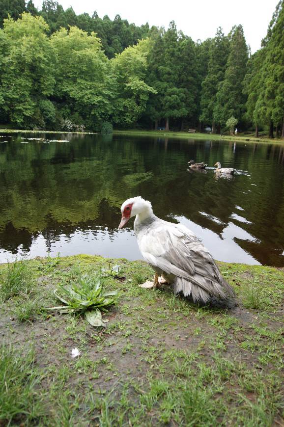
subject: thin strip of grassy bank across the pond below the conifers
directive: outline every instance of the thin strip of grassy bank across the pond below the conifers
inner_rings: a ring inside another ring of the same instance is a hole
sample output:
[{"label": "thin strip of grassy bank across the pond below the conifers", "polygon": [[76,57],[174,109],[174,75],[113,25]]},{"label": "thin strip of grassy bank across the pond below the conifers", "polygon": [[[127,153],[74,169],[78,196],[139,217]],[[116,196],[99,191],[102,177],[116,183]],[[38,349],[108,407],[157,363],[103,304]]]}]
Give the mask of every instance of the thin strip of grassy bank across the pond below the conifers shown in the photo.
[{"label": "thin strip of grassy bank across the pond below the conifers", "polygon": [[166,131],[137,131],[137,130],[126,130],[126,131],[114,131],[114,134],[123,135],[137,135],[137,136],[160,136],[169,138],[186,138],[186,139],[210,139],[210,140],[229,140],[229,141],[240,141],[240,142],[265,142],[273,144],[284,144],[284,139],[269,139],[266,137],[255,138],[253,135],[242,135],[229,136],[229,135],[216,135],[211,133],[187,133],[187,132],[166,132]]}]

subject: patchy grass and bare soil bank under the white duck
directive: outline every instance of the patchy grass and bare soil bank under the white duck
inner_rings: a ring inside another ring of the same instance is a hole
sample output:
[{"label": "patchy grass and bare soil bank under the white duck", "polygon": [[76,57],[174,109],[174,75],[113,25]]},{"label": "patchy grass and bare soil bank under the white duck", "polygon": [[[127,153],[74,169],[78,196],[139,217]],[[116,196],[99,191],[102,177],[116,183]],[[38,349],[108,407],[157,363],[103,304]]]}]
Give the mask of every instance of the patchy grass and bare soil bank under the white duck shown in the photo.
[{"label": "patchy grass and bare soil bank under the white duck", "polygon": [[[284,270],[219,267],[236,298],[202,306],[169,285],[141,289],[152,276],[142,261],[1,265],[0,425],[281,425]],[[105,328],[44,310],[58,305],[59,283],[101,268],[118,291]]]}]

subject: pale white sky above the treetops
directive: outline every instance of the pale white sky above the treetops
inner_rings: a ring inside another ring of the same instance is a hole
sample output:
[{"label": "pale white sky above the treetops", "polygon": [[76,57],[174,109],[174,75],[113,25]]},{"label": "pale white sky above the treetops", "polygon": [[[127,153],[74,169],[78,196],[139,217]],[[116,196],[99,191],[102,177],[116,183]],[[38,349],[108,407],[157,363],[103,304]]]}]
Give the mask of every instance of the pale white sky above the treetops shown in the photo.
[{"label": "pale white sky above the treetops", "polygon": [[[58,0],[64,9],[72,6],[76,14],[94,10],[100,18],[116,14],[130,23],[168,27],[174,20],[178,29],[194,41],[213,37],[221,26],[227,34],[233,25],[243,25],[247,43],[252,53],[260,48],[278,0]],[[35,0],[41,8],[42,0]]]}]

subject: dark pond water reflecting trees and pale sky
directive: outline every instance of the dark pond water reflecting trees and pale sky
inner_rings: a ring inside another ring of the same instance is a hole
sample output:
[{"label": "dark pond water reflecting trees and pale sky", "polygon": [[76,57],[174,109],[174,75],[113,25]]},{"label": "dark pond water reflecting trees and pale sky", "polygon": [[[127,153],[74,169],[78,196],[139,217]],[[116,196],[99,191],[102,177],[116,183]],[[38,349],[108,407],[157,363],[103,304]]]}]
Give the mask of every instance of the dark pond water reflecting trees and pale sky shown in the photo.
[{"label": "dark pond water reflecting trees and pale sky", "polygon": [[[188,171],[191,159],[238,172]],[[284,145],[66,133],[0,136],[0,262],[49,251],[140,259],[133,220],[117,229],[137,195],[217,260],[284,266]]]}]

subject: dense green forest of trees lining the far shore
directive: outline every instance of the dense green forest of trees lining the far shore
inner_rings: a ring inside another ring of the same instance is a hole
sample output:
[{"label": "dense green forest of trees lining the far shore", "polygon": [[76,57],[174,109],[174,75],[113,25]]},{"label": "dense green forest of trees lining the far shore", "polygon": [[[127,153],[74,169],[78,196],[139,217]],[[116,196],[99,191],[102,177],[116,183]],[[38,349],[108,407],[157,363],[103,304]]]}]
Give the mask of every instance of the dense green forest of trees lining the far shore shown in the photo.
[{"label": "dense green forest of trees lining the far shore", "polygon": [[226,130],[284,137],[284,1],[251,55],[243,27],[194,42],[116,15],[76,15],[53,0],[2,0],[0,123],[15,128]]}]

